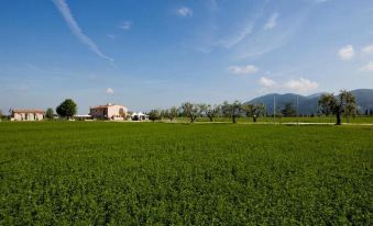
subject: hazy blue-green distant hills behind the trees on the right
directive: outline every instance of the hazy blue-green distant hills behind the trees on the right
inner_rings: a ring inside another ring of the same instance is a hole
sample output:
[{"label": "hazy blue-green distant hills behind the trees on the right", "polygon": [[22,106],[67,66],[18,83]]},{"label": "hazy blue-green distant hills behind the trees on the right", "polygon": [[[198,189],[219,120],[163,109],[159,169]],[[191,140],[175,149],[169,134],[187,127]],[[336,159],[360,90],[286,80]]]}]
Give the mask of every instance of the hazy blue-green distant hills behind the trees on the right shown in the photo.
[{"label": "hazy blue-green distant hills behind the trees on the right", "polygon": [[[373,109],[373,89],[358,89],[351,91],[358,102],[358,106],[361,113],[365,112],[365,109]],[[295,93],[286,93],[286,94],[278,94],[278,93],[271,93],[266,95],[262,95],[259,98],[254,98],[246,103],[264,103],[266,105],[267,112],[271,114],[273,113],[273,100],[274,97],[276,98],[276,109],[277,111],[283,109],[286,103],[294,103],[294,108],[296,106],[296,100],[298,97],[299,102],[299,114],[312,114],[317,112],[317,103],[319,97],[322,92],[315,93],[311,95],[299,95]]]}]

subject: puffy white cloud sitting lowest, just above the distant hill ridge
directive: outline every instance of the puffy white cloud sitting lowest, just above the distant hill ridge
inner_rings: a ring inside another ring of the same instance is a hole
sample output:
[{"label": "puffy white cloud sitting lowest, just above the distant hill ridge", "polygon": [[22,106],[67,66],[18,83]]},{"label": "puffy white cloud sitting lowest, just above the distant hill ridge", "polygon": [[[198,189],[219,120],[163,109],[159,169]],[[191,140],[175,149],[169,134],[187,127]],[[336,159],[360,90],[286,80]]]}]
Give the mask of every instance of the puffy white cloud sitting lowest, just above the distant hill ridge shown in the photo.
[{"label": "puffy white cloud sitting lowest, just above the distant hill ridge", "polygon": [[319,87],[317,82],[310,81],[305,78],[292,79],[286,82],[278,83],[272,79],[262,77],[259,80],[259,83],[265,89],[271,89],[271,90],[276,89],[281,91],[292,90],[292,91],[296,91],[300,93],[307,93],[309,91],[316,90]]}]

